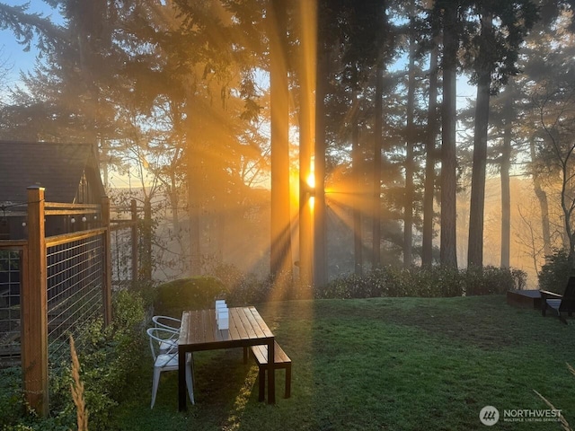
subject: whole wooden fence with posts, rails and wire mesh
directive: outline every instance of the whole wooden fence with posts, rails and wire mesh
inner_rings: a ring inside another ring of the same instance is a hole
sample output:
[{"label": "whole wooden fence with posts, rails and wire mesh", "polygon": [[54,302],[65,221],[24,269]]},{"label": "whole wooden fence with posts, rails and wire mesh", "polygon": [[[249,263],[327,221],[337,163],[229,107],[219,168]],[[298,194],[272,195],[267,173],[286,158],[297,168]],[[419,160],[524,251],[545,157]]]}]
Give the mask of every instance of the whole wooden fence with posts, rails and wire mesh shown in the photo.
[{"label": "whole wooden fence with posts, rails and wire mesh", "polygon": [[[114,220],[112,236],[108,198],[101,207],[46,203],[44,189],[32,186],[22,224],[28,240],[0,242],[0,366],[22,366],[26,399],[42,416],[48,415],[48,365],[69,364],[69,334],[82,339],[79,331],[90,321],[111,322],[112,277],[120,286],[137,280],[135,201],[129,214]],[[84,221],[86,215],[98,216],[102,227],[45,234],[47,216]],[[111,236],[117,266],[111,265]]]}]

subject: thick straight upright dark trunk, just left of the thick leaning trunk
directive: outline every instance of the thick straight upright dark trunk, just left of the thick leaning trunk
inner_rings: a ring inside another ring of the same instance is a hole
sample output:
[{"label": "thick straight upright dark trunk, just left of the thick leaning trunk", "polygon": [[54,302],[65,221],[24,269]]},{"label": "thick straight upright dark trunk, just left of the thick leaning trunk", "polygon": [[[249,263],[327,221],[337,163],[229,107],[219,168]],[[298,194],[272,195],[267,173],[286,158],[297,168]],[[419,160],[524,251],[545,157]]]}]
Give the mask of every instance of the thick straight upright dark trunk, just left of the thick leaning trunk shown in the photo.
[{"label": "thick straight upright dark trunk, just left of the thick leaning trunk", "polygon": [[457,7],[444,12],[441,129],[441,265],[457,268],[456,249],[456,66]]}]

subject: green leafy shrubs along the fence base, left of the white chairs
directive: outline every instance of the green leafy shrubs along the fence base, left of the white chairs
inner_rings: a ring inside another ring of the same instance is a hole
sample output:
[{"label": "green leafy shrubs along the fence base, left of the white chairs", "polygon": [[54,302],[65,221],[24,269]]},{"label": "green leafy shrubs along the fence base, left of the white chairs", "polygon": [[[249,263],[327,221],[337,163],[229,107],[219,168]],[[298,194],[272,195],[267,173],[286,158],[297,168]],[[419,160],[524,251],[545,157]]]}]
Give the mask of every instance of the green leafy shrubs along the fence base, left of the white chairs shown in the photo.
[{"label": "green leafy shrubs along the fence base, left of the white chairs", "polygon": [[[141,295],[120,291],[113,298],[113,312],[110,325],[104,327],[102,319],[91,321],[78,331],[81,336],[76,339],[91,429],[111,429],[111,407],[122,400],[129,382],[137,378],[138,363],[133,358],[146,351],[141,329],[146,311]],[[10,387],[10,379],[4,383],[5,372],[0,375],[3,388]],[[75,428],[75,404],[70,392],[71,364],[66,361],[52,365],[49,375],[50,417],[26,414],[21,407],[24,405],[22,390],[8,391],[15,395],[7,401],[0,396],[0,426],[3,426],[0,429],[67,431]],[[21,384],[19,381],[19,387]],[[8,406],[6,414],[4,406]]]}]

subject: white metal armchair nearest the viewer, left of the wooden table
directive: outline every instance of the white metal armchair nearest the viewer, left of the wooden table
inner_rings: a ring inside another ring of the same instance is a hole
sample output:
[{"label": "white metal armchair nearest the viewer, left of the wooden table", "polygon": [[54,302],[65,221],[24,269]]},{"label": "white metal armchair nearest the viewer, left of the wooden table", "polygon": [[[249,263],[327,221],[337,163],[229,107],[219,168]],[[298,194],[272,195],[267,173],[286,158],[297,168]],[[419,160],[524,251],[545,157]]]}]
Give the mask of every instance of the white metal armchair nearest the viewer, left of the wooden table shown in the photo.
[{"label": "white metal armchair nearest the viewer, left of the wooden table", "polygon": [[[160,374],[164,371],[177,371],[178,370],[178,350],[177,350],[177,339],[176,348],[171,348],[168,350],[163,350],[161,347],[163,343],[169,342],[173,335],[173,330],[168,330],[166,328],[148,328],[147,335],[150,339],[150,349],[152,350],[152,356],[154,357],[154,382],[152,383],[152,404],[150,409],[154,409],[155,395],[158,391],[158,385],[160,383]],[[193,383],[193,356],[191,354],[186,355],[186,386],[188,386],[188,394],[190,395],[190,401],[192,404],[194,402],[194,383]]]}]

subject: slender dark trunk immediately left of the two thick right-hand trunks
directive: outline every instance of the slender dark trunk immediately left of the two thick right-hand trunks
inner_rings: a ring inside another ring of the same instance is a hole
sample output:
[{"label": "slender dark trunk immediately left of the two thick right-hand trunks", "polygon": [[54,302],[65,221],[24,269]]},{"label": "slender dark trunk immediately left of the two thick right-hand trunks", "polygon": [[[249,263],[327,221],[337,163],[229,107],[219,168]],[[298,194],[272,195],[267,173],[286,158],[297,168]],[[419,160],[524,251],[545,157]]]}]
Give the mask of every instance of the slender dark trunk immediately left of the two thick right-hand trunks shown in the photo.
[{"label": "slender dark trunk immediately left of the two thick right-hand trunks", "polygon": [[430,267],[433,264],[433,220],[435,211],[435,161],[438,136],[438,46],[431,51],[429,58],[429,107],[428,134],[425,142],[425,185],[423,194],[423,233],[421,247],[421,264]]}]

